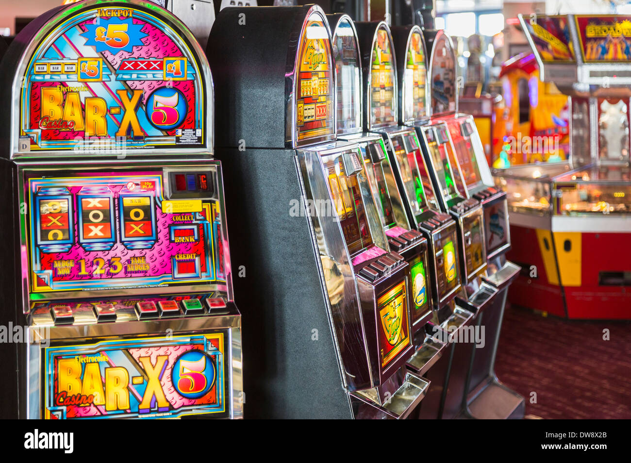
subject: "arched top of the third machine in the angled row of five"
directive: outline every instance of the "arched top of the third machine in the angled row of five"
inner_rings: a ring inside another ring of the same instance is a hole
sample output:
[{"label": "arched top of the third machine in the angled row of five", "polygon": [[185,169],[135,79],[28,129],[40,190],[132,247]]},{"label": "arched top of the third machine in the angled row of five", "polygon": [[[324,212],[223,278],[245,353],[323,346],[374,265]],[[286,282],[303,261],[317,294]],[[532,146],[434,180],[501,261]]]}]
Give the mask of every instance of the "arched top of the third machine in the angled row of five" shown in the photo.
[{"label": "arched top of the third machine in the angled row of five", "polygon": [[396,56],[392,34],[384,21],[355,23],[362,52],[364,127],[367,130],[396,126],[398,93]]}]

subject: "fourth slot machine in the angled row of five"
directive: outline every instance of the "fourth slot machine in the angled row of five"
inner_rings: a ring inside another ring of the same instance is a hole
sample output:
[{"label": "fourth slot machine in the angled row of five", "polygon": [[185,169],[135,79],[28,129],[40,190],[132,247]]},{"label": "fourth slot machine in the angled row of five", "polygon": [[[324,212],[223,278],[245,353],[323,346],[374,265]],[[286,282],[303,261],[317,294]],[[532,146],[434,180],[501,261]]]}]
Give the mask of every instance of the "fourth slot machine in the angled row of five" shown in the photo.
[{"label": "fourth slot machine in the angled row of five", "polygon": [[[481,206],[478,202],[467,200],[467,211],[462,214],[454,214],[449,210],[445,202],[447,199],[454,200],[464,198],[457,194],[456,181],[447,149],[452,149],[451,140],[447,128],[444,125],[434,127],[430,120],[430,105],[428,102],[432,93],[428,93],[428,82],[425,76],[427,69],[427,52],[423,35],[418,27],[400,26],[393,28],[394,47],[398,56],[405,57],[399,62],[398,84],[399,84],[399,120],[401,124],[415,128],[421,140],[421,148],[416,156],[416,165],[419,175],[424,182],[431,186],[425,191],[430,192],[429,201],[433,208],[445,215],[449,215],[456,221],[457,239],[454,241],[458,249],[459,261],[455,265],[459,267],[462,274],[463,288],[457,291],[456,307],[471,314],[466,326],[468,330],[480,331],[481,312],[490,307],[496,300],[497,290],[492,284],[483,281],[480,274],[486,269],[483,216]],[[455,62],[455,61],[454,61]],[[451,70],[455,76],[455,70]],[[418,101],[420,97],[423,101]],[[437,128],[440,129],[437,131]],[[437,158],[427,156],[428,139],[433,148],[436,138],[440,137],[440,151],[436,149],[434,153]],[[396,153],[396,151],[395,151]],[[441,157],[442,153],[442,157]],[[398,176],[399,185],[403,184],[406,177],[403,163],[398,163],[395,175]],[[445,196],[449,196],[445,198]],[[475,200],[474,200],[475,201]],[[451,207],[451,206],[450,206]],[[422,221],[419,226],[423,230],[430,232],[432,221]],[[468,416],[466,408],[466,392],[469,388],[471,375],[471,361],[474,358],[475,346],[473,343],[461,343],[454,346],[451,360],[451,373],[449,376],[448,394],[444,397],[442,405],[442,418],[455,418],[456,416]]]}]

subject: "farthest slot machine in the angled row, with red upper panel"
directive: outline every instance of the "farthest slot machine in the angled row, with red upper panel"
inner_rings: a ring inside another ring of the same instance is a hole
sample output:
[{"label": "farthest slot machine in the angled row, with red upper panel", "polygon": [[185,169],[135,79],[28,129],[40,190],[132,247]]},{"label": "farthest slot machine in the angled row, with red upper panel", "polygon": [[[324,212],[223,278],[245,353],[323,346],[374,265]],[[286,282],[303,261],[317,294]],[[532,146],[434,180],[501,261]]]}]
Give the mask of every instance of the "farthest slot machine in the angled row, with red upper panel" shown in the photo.
[{"label": "farthest slot machine in the angled row, with red upper panel", "polygon": [[[450,62],[454,62],[454,52],[449,36],[439,31],[433,39],[430,58],[429,76],[432,82],[432,95],[435,93],[440,95],[440,89],[448,86],[441,86],[440,82],[449,78],[452,72],[456,72],[455,69],[451,71]],[[469,209],[469,204],[474,204],[473,201],[479,201],[482,207],[483,233],[481,237],[484,241],[481,252],[486,255],[487,268],[475,270],[477,276],[468,273],[469,296],[477,291],[478,285],[482,287],[490,285],[497,291],[492,302],[488,303],[483,312],[475,312],[478,315],[477,323],[485,327],[485,334],[490,342],[485,343],[483,348],[473,349],[466,413],[478,418],[516,418],[523,416],[524,399],[498,382],[494,368],[507,291],[520,271],[519,266],[505,258],[505,253],[510,249],[506,194],[493,187],[492,175],[473,117],[457,111],[457,98],[454,98],[453,103],[453,110],[449,107],[440,108],[440,105],[435,108],[432,112],[432,126],[429,129],[421,129],[427,141],[426,155],[433,165],[433,172],[437,174],[435,180],[442,188],[449,184],[449,165],[452,167],[453,183],[461,198],[456,199],[452,196],[447,199],[447,196],[443,195],[442,207],[450,208],[452,213],[464,217],[468,216],[467,209]],[[435,131],[435,141],[430,139],[432,127]],[[441,151],[440,141],[444,138],[445,127],[449,140],[443,144],[444,150]],[[445,173],[441,175],[441,171]],[[467,204],[468,201],[469,204]],[[475,217],[473,223],[477,223],[479,218],[479,216]],[[466,222],[464,218],[463,222]],[[466,227],[463,228],[464,230]],[[473,226],[473,230],[476,230],[476,226]],[[466,233],[464,237],[466,245],[469,238],[466,237]],[[479,239],[478,237],[473,238],[472,242]],[[474,262],[474,267],[478,250],[472,253],[471,262]],[[471,268],[469,259],[467,259],[466,268]]]}]

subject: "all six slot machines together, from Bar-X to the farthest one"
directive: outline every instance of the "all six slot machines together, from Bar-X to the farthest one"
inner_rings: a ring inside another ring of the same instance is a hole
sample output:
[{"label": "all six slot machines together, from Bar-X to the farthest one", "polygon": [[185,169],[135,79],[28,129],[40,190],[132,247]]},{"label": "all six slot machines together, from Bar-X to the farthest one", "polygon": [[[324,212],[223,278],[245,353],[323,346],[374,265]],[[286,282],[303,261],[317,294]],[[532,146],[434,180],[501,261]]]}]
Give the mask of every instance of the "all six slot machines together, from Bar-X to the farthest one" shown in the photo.
[{"label": "all six slot machines together, from Bar-X to the farthest one", "polygon": [[444,32],[225,8],[204,53],[87,0],[0,67],[3,413],[523,415],[494,373],[505,195]]}]

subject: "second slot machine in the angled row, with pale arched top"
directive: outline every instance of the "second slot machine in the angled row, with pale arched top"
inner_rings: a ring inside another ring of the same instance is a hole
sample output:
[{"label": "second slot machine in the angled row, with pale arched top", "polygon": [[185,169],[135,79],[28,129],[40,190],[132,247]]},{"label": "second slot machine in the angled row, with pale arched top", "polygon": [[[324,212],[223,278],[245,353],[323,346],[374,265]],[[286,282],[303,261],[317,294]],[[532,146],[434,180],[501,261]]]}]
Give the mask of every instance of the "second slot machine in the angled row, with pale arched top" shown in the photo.
[{"label": "second slot machine in the angled row, with pale arched top", "polygon": [[[433,325],[427,325],[432,319],[432,296],[436,291],[430,280],[427,240],[410,226],[387,158],[384,139],[377,132],[362,131],[363,80],[355,25],[348,15],[327,15],[327,19],[336,66],[338,144],[343,141],[358,144],[379,221],[386,233],[387,247],[402,255],[410,266],[408,278],[413,295],[411,330],[415,352],[408,360],[408,368],[417,375],[425,375],[445,356],[447,348],[447,344],[432,336]],[[439,387],[440,382],[432,381],[430,391]]]}]

